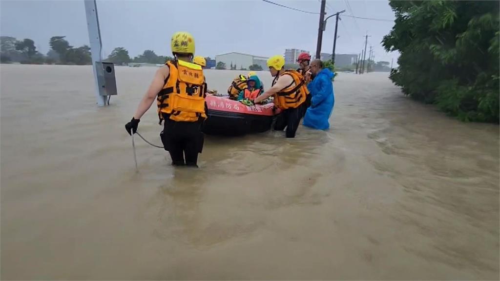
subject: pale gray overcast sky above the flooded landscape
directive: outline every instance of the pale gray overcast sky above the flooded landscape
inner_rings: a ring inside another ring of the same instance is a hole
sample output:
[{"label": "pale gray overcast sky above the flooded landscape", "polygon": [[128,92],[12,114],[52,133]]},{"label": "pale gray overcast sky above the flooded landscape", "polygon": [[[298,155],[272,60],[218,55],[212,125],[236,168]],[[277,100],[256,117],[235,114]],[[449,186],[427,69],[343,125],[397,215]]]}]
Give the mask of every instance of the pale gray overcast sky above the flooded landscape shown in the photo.
[{"label": "pale gray overcast sky above the flooded landscape", "polygon": [[[283,5],[319,12],[319,0],[272,0]],[[355,16],[394,19],[386,0],[327,0],[327,15],[350,4]],[[130,56],[152,49],[170,54],[170,36],[189,31],[196,54],[214,57],[237,51],[261,56],[283,54],[285,48],[315,53],[319,15],[279,7],[261,0],[97,0],[103,56],[123,46]],[[395,59],[380,40],[393,22],[353,19],[339,21],[336,53],[359,53],[368,32],[375,60]],[[280,22],[280,23],[276,23]],[[331,53],[334,17],[323,32],[321,52]],[[73,46],[88,44],[83,0],[0,0],[0,33],[17,39],[31,38],[40,52],[49,50],[51,36],[66,35]]]}]

